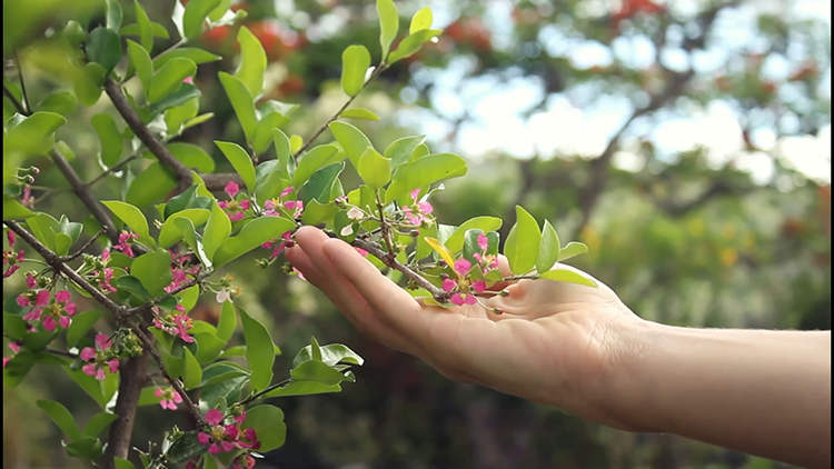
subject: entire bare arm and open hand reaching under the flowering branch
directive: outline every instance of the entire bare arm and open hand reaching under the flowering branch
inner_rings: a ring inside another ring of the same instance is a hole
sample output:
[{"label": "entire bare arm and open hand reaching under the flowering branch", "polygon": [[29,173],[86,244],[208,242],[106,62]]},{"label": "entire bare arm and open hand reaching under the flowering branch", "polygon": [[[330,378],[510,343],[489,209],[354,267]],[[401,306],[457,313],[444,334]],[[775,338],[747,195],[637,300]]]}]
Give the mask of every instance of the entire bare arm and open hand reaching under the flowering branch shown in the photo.
[{"label": "entire bare arm and open hand reaching under the flowering branch", "polygon": [[453,380],[622,430],[831,467],[830,331],[664,326],[598,280],[497,286],[509,295],[485,303],[503,315],[425,306],[347,243],[311,227],[296,240],[288,260],[363,333]]}]

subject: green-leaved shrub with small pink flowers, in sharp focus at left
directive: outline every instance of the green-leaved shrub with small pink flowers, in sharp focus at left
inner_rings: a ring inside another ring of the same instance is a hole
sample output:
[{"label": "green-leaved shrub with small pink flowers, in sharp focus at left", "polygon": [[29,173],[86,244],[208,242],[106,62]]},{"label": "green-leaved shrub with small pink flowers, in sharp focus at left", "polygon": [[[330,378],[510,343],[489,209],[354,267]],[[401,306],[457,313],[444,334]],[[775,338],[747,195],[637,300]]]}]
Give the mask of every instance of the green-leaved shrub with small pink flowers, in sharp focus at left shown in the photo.
[{"label": "green-leaved shrub with small pink flowers, in sharp focus at left", "polygon": [[[443,189],[440,182],[466,173],[463,158],[433,153],[423,137],[399,139],[380,152],[344,121],[377,119],[369,110],[348,108],[368,82],[440,33],[430,29],[428,9],[415,14],[408,34],[390,50],[399,36],[399,16],[391,0],[378,0],[381,60],[371,67],[364,46],[345,50],[341,88],[347,102],[307,141],[290,139],[280,129],[294,106],[266,100],[256,108],[266,54],[252,33],[240,27],[239,67],[235,74],[220,72],[219,81],[249,149],[216,142],[236,172],[215,173],[202,149],[170,142],[211,118],[199,114],[200,91],[192,77],[198,64],[220,58],[185,44],[207,29],[234,24],[245,12],[229,11],[229,3],[177,3],[173,22],[181,40],[155,58],[153,38],[162,28],[139,3],[136,24],[122,27],[116,1],[107,1],[107,23],[89,33],[70,21],[54,40],[70,52],[73,92],[52,94],[70,100],[69,107],[32,108],[23,87],[4,81],[6,103],[16,112],[4,121],[3,277],[22,266],[37,267],[24,272],[27,290],[16,297],[17,308],[7,305],[3,311],[11,351],[3,359],[4,385],[17,386],[36,365],[67,372],[96,399],[101,412],[81,430],[59,402],[38,405],[66,433],[69,456],[100,461],[102,467],[132,467],[127,460],[131,416],[147,405],[183,408],[196,430],[173,427],[159,446],[147,452],[137,449],[143,467],[252,467],[259,452],[280,447],[286,435],[284,413],[265,401],[338,392],[342,382],[355,380],[350,367],[363,363],[358,355],[312,339],[296,356],[289,378],[274,382],[280,350],[269,331],[236,305],[241,290],[232,275],[212,280],[221,268],[252,251],[264,256],[257,262],[268,268],[292,246],[301,224],[324,226],[391,279],[405,280],[404,288],[414,296],[444,307],[480,303],[496,282],[522,278],[595,286],[570,271],[550,271],[555,262],[586,248],[562,248],[553,227],[545,222],[540,228],[520,207],[504,243],[513,271],[505,278],[497,270],[500,219],[477,217],[453,227],[434,218],[429,200]],[[123,87],[135,78],[141,84],[137,96]],[[152,162],[129,181],[123,200],[99,202],[91,184],[80,182],[64,158],[66,144],[53,144],[52,136],[66,122],[59,111],[68,112],[77,101],[92,106],[102,89],[128,126],[128,131],[118,131],[108,113],[91,120],[101,142],[100,162],[107,168],[103,177],[116,177],[137,162],[137,156],[146,154]],[[314,146],[328,129],[335,142]],[[123,140],[137,150],[122,158]],[[23,164],[41,154],[70,181],[100,228],[88,231],[89,239],[75,250],[82,223],[33,211],[30,192],[39,170]],[[348,162],[363,180],[350,190],[339,179]],[[225,196],[218,200],[216,192]],[[100,237],[107,238],[108,248],[95,253]],[[285,270],[297,273],[288,265]],[[222,305],[217,325],[189,317],[203,291],[211,291]],[[77,311],[73,295],[99,308]],[[231,346],[239,326],[242,343]],[[245,365],[236,359],[241,356]],[[149,373],[149,366],[158,372]],[[105,445],[100,435],[108,427]]]}]

